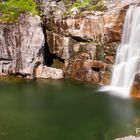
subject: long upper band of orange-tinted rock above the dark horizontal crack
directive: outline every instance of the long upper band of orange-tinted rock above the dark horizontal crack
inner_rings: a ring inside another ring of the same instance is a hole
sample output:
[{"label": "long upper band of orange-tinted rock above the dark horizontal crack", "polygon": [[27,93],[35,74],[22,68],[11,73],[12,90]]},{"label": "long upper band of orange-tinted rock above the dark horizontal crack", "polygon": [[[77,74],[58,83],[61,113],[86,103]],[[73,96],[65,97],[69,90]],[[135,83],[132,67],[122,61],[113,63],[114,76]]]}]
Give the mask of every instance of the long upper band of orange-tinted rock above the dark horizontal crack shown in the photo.
[{"label": "long upper band of orange-tinted rock above the dark horizontal crack", "polygon": [[46,26],[64,36],[78,36],[92,41],[101,41],[103,38],[107,41],[120,41],[127,8],[117,7],[102,14],[91,12],[81,18],[50,18]]}]

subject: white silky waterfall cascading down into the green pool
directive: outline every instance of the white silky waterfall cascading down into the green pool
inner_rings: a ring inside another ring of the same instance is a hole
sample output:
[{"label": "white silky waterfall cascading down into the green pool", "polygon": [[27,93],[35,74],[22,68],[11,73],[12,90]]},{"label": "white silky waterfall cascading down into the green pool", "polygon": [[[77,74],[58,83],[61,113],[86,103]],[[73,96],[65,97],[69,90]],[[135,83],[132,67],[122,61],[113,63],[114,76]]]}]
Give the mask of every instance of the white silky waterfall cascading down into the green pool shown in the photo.
[{"label": "white silky waterfall cascading down into the green pool", "polygon": [[117,51],[116,62],[109,90],[116,95],[129,97],[140,58],[140,7],[129,7],[124,23],[122,42]]}]

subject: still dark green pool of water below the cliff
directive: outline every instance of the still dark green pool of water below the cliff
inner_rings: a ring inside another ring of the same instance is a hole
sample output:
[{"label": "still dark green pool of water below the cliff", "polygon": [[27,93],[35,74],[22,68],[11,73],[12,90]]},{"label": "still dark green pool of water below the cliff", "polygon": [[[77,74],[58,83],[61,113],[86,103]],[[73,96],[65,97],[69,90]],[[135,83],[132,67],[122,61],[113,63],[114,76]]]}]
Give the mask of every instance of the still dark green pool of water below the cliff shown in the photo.
[{"label": "still dark green pool of water below the cliff", "polygon": [[0,140],[113,140],[136,135],[140,100],[72,80],[0,78]]}]

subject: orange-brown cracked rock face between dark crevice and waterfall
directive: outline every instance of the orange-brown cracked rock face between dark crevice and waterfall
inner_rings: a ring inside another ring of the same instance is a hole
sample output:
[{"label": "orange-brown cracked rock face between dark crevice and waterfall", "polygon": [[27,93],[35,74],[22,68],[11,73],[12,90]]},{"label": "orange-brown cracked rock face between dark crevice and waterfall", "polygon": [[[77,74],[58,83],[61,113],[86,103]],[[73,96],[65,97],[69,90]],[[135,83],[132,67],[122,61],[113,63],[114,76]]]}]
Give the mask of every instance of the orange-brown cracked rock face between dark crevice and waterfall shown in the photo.
[{"label": "orange-brown cracked rock face between dark crevice and waterfall", "polygon": [[[52,7],[47,11],[51,16],[43,15],[46,42],[49,53],[64,60],[65,77],[109,84],[128,5],[65,17],[62,5],[52,3],[47,2]],[[56,14],[54,7],[61,10],[61,14]],[[46,13],[46,9],[43,7],[42,13]]]}]

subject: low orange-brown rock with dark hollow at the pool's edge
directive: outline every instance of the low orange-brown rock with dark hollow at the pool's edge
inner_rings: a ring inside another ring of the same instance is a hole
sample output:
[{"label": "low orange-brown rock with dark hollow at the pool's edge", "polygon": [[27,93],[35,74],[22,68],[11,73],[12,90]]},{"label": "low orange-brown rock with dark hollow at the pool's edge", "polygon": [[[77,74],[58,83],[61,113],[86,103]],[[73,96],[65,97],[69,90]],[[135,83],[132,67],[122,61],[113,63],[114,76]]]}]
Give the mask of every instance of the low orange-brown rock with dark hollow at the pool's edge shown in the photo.
[{"label": "low orange-brown rock with dark hollow at the pool's edge", "polygon": [[[85,60],[77,59],[71,61],[69,64],[69,69],[65,71],[65,75],[76,80],[87,81],[91,83],[107,82],[103,81],[102,72],[110,71],[110,66],[96,60]],[[105,77],[104,77],[105,79]]]}]

